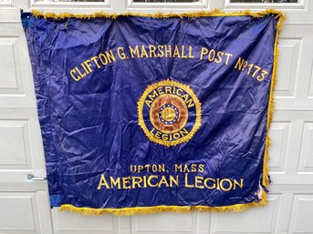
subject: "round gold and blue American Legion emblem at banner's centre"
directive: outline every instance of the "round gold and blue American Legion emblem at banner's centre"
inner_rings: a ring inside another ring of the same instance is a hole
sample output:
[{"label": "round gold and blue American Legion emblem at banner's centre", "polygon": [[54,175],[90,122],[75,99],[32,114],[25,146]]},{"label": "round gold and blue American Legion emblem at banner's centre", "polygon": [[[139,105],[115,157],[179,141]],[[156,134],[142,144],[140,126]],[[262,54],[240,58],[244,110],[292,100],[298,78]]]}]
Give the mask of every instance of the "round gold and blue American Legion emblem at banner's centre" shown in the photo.
[{"label": "round gold and blue American Legion emblem at banner's centre", "polygon": [[201,103],[190,86],[163,80],[143,92],[138,117],[151,141],[176,146],[189,141],[201,126]]}]

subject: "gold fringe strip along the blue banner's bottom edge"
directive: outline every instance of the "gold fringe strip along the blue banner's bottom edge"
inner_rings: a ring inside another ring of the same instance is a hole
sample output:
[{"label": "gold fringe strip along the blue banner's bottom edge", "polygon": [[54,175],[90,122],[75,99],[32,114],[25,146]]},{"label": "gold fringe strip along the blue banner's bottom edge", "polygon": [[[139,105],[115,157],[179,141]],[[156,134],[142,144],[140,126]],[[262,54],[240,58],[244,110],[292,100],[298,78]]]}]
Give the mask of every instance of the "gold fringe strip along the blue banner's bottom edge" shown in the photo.
[{"label": "gold fringe strip along the blue banner's bottom edge", "polygon": [[173,213],[189,213],[191,211],[244,211],[251,207],[264,207],[268,203],[266,192],[262,190],[261,200],[258,202],[251,202],[248,204],[235,204],[232,206],[224,207],[206,207],[206,206],[156,206],[156,207],[134,207],[134,208],[121,208],[121,209],[93,209],[93,208],[78,208],[70,204],[62,205],[61,211],[73,211],[83,215],[99,216],[102,214],[112,214],[115,216],[132,216],[132,215],[147,215],[160,212],[173,212]]}]

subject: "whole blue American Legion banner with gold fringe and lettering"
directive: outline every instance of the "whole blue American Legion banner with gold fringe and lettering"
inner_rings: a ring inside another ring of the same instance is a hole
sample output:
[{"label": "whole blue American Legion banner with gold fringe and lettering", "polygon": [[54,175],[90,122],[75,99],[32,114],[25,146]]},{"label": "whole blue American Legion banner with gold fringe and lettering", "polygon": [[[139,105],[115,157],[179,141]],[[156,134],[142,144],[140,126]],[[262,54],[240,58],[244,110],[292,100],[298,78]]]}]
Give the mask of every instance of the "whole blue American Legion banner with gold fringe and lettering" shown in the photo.
[{"label": "whole blue American Legion banner with gold fringe and lettering", "polygon": [[282,12],[21,17],[51,207],[266,205]]}]

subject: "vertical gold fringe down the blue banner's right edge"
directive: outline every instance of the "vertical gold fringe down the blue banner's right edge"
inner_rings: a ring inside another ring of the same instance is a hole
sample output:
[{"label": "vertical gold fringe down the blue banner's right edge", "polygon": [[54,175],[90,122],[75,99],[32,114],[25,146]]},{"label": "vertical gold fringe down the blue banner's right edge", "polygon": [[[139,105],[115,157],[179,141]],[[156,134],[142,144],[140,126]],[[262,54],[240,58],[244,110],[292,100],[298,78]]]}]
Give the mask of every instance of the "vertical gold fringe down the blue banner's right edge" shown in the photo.
[{"label": "vertical gold fringe down the blue banner's right edge", "polygon": [[268,186],[269,186],[268,165],[267,165],[267,162],[269,160],[268,148],[272,145],[271,139],[269,137],[269,128],[271,126],[273,113],[274,113],[274,107],[275,107],[274,90],[275,90],[276,80],[277,80],[277,65],[278,65],[278,56],[279,56],[278,38],[279,38],[280,31],[281,31],[286,19],[287,19],[286,15],[284,15],[284,14],[279,15],[279,19],[277,22],[277,29],[276,29],[275,45],[274,45],[274,64],[273,64],[270,93],[269,93],[269,98],[268,98],[268,110],[267,110],[267,121],[266,121],[266,146],[265,146],[265,152],[264,152],[264,158],[263,158],[262,185],[265,188],[268,188]]}]

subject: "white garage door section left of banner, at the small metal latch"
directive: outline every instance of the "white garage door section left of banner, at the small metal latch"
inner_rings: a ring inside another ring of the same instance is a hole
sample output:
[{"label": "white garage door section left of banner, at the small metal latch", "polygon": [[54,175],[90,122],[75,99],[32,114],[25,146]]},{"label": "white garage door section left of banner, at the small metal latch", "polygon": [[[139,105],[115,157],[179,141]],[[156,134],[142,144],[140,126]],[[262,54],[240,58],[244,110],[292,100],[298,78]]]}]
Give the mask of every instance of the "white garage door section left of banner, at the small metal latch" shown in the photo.
[{"label": "white garage door section left of banner, at the small metal latch", "polygon": [[1,108],[0,181],[26,181],[27,174],[45,177],[40,142],[36,108]]}]

